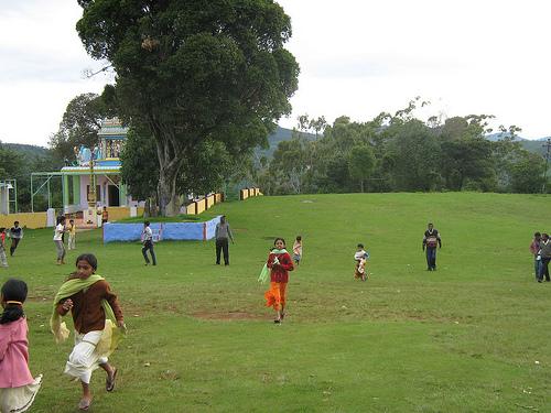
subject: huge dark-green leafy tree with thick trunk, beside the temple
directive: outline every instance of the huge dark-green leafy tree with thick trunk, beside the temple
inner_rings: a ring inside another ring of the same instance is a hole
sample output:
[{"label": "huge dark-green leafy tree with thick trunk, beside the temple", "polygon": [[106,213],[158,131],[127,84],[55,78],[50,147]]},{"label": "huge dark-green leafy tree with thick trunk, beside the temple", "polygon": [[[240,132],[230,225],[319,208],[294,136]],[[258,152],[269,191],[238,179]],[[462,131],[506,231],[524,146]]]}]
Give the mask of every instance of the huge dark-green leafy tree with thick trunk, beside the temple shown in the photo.
[{"label": "huge dark-green leafy tree with thick trunk, beside the temple", "polygon": [[[86,51],[107,61],[119,113],[149,131],[162,214],[205,141],[238,157],[266,143],[291,110],[299,66],[283,44],[291,23],[271,0],[79,0]],[[106,94],[105,93],[105,94]]]}]

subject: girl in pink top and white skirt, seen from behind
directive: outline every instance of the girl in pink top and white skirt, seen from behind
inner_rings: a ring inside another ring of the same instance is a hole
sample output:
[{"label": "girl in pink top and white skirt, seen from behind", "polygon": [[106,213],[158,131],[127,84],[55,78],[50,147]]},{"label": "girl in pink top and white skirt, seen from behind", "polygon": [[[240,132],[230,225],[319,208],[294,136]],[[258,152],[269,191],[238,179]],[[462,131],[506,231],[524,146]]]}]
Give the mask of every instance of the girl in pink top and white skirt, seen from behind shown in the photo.
[{"label": "girl in pink top and white skirt, seen from behind", "polygon": [[26,412],[36,396],[42,374],[33,379],[29,370],[29,341],[23,303],[26,284],[8,280],[0,296],[0,412]]}]

